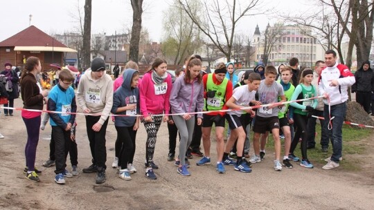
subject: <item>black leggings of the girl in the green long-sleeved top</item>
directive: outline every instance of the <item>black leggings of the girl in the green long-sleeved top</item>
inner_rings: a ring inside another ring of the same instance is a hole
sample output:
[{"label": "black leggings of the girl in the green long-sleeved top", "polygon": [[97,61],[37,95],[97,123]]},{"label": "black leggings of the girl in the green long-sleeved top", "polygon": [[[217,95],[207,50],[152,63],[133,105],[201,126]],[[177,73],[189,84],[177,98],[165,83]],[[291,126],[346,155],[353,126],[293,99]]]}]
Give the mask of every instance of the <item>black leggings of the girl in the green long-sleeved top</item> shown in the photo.
[{"label": "black leggings of the girl in the green long-sleeved top", "polygon": [[301,155],[303,156],[303,160],[308,159],[308,155],[307,155],[308,116],[294,113],[294,121],[295,121],[295,126],[296,126],[296,133],[291,143],[290,153],[294,153],[294,150],[296,149],[296,146],[299,143],[299,138],[301,137],[302,139],[301,140]]}]

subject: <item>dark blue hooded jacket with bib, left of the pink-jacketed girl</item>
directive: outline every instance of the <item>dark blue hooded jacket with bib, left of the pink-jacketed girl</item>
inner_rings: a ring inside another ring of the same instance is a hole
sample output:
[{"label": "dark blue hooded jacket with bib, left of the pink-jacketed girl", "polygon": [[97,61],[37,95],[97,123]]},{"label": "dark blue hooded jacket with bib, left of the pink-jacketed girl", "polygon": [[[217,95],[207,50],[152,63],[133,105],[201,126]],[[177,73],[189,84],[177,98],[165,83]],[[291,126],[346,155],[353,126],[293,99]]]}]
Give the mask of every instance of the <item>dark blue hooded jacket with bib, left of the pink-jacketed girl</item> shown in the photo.
[{"label": "dark blue hooded jacket with bib, left of the pink-jacketed girl", "polygon": [[[115,115],[128,115],[127,111],[117,113],[119,107],[127,106],[127,104],[136,104],[136,114],[140,113],[140,103],[139,103],[139,88],[132,88],[132,76],[137,71],[134,69],[127,69],[123,73],[123,83],[114,92],[113,96],[113,106],[111,112]],[[136,117],[119,117],[115,116],[114,125],[122,127],[134,126]]]}]

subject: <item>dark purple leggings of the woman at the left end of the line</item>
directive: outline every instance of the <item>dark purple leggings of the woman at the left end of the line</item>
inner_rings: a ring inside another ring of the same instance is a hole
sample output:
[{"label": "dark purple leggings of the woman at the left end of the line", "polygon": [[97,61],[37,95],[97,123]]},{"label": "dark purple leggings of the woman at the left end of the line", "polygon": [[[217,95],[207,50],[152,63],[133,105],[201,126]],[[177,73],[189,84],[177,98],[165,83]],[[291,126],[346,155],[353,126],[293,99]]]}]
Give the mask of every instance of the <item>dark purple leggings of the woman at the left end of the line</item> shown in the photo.
[{"label": "dark purple leggings of the woman at the left end of the line", "polygon": [[25,149],[26,166],[28,167],[28,171],[35,171],[35,157],[37,143],[39,142],[39,128],[42,118],[40,116],[30,119],[22,118],[27,130],[27,144]]}]

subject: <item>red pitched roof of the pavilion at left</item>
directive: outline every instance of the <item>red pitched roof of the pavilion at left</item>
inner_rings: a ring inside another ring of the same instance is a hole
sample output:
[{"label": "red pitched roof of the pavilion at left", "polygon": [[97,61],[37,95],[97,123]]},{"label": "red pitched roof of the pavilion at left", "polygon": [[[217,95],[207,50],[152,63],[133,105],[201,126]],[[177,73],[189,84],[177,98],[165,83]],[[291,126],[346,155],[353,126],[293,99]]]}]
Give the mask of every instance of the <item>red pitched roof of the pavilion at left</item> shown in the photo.
[{"label": "red pitched roof of the pavilion at left", "polygon": [[42,32],[42,30],[39,30],[39,28],[36,28],[35,26],[29,26],[21,32],[18,32],[16,35],[0,42],[0,47],[15,46],[55,46],[67,48],[60,41],[57,41],[45,32]]}]

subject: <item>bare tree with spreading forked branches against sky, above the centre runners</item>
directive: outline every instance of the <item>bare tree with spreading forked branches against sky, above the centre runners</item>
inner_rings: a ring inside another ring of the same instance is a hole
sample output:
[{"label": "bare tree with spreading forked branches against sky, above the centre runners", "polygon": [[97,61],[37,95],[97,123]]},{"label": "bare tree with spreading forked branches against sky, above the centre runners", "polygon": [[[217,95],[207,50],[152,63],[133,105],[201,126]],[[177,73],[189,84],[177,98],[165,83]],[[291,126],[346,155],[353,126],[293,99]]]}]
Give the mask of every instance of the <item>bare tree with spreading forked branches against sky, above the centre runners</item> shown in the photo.
[{"label": "bare tree with spreading forked branches against sky, above the centre runners", "polygon": [[[235,26],[244,16],[257,15],[259,0],[204,1],[202,14],[195,15],[190,1],[177,0],[199,30],[226,56],[231,58]],[[256,11],[251,12],[250,11]],[[203,17],[203,19],[201,18]]]}]

